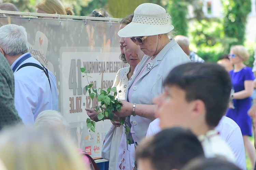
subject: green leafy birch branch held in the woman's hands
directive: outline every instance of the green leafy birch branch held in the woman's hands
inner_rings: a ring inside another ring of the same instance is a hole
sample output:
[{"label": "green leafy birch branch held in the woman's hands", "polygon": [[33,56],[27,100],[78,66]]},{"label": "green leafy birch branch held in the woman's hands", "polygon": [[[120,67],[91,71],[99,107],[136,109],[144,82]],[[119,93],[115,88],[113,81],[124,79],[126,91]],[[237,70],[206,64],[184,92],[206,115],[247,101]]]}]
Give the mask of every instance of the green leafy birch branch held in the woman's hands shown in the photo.
[{"label": "green leafy birch branch held in the woman's hands", "polygon": [[[97,106],[94,111],[100,113],[97,115],[97,118],[99,120],[105,120],[105,119],[110,119],[112,121],[114,120],[114,112],[120,112],[121,106],[123,105],[122,102],[120,102],[118,99],[116,99],[116,96],[118,95],[118,92],[120,93],[121,90],[117,92],[116,87],[113,88],[108,88],[106,90],[101,89],[99,94],[96,89],[93,88],[93,84],[89,83],[88,80],[88,73],[85,68],[80,68],[82,73],[86,74],[87,82],[88,85],[85,86],[86,92],[88,91],[89,96],[91,100],[94,98],[97,98],[98,101],[100,102],[100,106]],[[85,75],[84,75],[85,76]],[[84,77],[83,76],[83,77]],[[103,109],[103,106],[105,107]],[[120,122],[121,125],[125,127],[125,134],[127,135],[130,132],[130,127],[127,125],[127,122],[125,121],[125,118],[118,118],[118,121]],[[91,120],[87,118],[86,120],[86,125],[87,129],[90,129],[91,131],[95,132],[95,121],[94,119]],[[127,145],[131,143],[131,140],[128,139],[127,137]]]}]

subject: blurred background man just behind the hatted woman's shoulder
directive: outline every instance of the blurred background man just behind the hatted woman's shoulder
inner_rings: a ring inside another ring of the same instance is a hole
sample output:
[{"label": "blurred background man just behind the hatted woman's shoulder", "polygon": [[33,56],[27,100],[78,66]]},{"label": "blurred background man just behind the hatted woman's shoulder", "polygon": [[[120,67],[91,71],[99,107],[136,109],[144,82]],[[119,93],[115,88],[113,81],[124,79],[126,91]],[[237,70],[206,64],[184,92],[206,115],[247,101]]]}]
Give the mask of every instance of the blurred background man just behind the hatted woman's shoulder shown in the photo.
[{"label": "blurred background man just behind the hatted woman's shoulder", "polygon": [[195,52],[190,51],[189,39],[187,37],[183,35],[177,35],[176,37],[174,37],[174,39],[182,48],[182,50],[187,54],[187,56],[190,58],[191,62],[204,62],[204,60],[201,57],[199,57]]}]

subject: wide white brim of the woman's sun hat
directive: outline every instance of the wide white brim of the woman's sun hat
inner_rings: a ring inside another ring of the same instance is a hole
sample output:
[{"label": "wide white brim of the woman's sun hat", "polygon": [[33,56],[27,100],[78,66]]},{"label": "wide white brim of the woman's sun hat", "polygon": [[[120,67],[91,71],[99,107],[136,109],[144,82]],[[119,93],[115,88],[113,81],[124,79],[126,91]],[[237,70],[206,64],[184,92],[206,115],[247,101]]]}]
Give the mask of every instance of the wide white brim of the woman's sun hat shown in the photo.
[{"label": "wide white brim of the woman's sun hat", "polygon": [[118,31],[119,37],[139,37],[139,36],[151,36],[158,34],[166,34],[174,29],[173,25],[151,25],[144,23],[131,22],[123,29]]}]

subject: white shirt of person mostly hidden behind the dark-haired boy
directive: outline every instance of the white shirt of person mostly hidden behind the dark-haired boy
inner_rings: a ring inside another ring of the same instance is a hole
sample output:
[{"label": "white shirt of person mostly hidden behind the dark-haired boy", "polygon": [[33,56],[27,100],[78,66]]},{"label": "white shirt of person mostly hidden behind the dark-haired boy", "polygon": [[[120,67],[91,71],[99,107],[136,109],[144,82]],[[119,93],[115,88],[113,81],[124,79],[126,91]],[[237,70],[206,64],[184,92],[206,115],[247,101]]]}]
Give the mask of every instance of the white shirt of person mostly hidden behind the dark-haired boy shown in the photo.
[{"label": "white shirt of person mostly hidden behind the dark-haired boy", "polygon": [[[150,123],[146,137],[155,135],[161,131],[159,121],[160,119],[157,118]],[[236,165],[238,165],[242,170],[246,170],[243,136],[237,123],[232,119],[223,116],[215,129],[219,132],[219,136],[232,150],[234,156],[236,157]]]}]

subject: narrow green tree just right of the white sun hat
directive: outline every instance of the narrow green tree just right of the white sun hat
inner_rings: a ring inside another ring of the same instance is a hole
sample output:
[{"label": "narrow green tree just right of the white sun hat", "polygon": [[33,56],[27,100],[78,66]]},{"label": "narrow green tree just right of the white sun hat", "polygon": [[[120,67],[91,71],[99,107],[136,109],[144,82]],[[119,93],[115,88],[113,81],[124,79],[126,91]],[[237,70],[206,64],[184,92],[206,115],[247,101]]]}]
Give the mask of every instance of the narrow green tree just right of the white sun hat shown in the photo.
[{"label": "narrow green tree just right of the white sun hat", "polygon": [[169,1],[168,11],[172,17],[172,25],[175,28],[175,34],[187,36],[187,0]]}]

